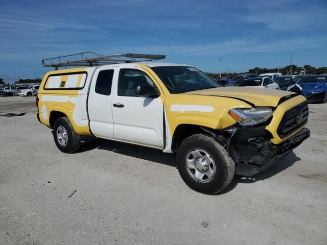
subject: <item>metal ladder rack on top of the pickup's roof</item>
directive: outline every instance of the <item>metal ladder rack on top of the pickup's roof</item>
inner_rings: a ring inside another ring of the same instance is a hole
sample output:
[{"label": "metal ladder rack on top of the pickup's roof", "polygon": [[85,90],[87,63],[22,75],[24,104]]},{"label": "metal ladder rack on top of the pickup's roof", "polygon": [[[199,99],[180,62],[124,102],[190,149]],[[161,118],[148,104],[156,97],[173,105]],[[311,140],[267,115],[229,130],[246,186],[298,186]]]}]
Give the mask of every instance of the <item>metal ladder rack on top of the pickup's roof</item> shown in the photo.
[{"label": "metal ladder rack on top of the pickup's roof", "polygon": [[54,58],[42,59],[43,67],[63,66],[98,66],[108,64],[132,63],[150,60],[162,60],[166,55],[147,55],[147,54],[116,54],[99,55],[94,52],[81,52],[72,55],[63,55]]}]

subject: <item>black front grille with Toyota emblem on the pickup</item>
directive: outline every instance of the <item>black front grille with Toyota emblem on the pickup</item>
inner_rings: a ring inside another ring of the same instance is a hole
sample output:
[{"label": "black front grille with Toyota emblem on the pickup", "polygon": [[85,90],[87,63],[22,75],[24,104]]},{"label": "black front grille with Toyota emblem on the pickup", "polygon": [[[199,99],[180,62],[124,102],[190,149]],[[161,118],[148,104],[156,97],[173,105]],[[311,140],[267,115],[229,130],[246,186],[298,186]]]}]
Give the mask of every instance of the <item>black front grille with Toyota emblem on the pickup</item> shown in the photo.
[{"label": "black front grille with Toyota emblem on the pickup", "polygon": [[303,102],[285,112],[277,129],[279,137],[284,138],[308,122],[308,102]]}]

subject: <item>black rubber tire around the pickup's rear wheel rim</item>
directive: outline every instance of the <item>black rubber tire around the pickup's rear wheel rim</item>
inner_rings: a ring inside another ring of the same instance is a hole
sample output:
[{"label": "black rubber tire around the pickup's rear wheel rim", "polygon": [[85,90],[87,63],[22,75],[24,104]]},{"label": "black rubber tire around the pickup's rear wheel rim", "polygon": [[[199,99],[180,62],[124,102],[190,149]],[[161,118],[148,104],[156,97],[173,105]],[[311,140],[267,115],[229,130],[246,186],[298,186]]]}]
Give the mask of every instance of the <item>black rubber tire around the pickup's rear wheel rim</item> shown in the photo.
[{"label": "black rubber tire around the pickup's rear wheel rim", "polygon": [[[62,140],[60,140],[57,135],[57,133],[59,132],[59,130],[62,129],[62,127],[66,131],[66,134],[65,134],[66,135],[66,144],[65,145],[62,145],[60,143],[60,142],[62,142]],[[64,153],[76,152],[80,148],[80,145],[81,145],[81,136],[75,132],[71,121],[69,121],[69,119],[67,117],[59,117],[55,121],[55,124],[53,127],[53,138],[55,140],[55,143],[56,143],[58,149]]]}]

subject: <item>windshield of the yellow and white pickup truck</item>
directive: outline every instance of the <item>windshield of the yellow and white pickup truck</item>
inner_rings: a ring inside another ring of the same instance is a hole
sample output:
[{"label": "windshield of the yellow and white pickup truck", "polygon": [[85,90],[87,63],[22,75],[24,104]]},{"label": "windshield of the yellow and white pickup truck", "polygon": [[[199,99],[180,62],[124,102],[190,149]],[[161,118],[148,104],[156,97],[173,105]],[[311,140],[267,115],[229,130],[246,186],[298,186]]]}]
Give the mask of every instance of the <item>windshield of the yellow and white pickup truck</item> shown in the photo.
[{"label": "windshield of the yellow and white pickup truck", "polygon": [[221,87],[202,71],[191,66],[158,66],[152,67],[152,70],[171,93]]}]

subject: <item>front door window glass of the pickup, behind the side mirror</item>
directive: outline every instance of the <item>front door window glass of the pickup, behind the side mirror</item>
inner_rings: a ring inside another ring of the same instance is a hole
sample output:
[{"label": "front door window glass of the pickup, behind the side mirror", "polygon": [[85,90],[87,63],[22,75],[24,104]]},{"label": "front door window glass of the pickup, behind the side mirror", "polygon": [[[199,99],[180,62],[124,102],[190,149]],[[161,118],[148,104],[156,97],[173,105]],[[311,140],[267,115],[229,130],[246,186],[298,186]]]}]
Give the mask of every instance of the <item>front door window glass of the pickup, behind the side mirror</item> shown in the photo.
[{"label": "front door window glass of the pickup, behind the side mirror", "polygon": [[149,84],[155,88],[152,80],[143,71],[134,69],[121,69],[118,79],[118,95],[136,97],[136,87],[143,84]]}]

